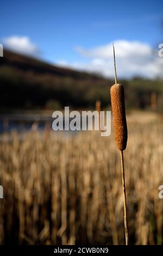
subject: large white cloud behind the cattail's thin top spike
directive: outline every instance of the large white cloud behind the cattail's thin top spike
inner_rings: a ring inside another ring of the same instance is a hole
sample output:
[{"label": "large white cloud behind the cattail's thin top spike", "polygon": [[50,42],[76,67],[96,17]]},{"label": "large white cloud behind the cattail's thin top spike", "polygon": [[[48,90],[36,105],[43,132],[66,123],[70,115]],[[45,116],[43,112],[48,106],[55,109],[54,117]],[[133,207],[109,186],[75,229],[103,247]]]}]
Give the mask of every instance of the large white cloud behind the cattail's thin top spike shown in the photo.
[{"label": "large white cloud behind the cattail's thin top spike", "polygon": [[[158,57],[158,54],[153,51],[150,45],[139,41],[127,40],[115,41],[114,45],[118,77],[163,77],[163,58]],[[84,62],[67,63],[62,60],[62,66],[98,72],[106,77],[114,77],[112,43],[90,49],[78,46],[76,51],[84,57]]]}]

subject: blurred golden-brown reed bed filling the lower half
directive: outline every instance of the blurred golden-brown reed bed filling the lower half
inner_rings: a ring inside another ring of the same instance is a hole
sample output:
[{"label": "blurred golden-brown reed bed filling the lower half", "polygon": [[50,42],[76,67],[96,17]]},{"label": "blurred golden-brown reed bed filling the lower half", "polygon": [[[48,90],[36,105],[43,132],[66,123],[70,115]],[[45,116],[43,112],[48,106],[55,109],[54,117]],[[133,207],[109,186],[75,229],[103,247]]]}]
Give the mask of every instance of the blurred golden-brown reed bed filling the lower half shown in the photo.
[{"label": "blurred golden-brown reed bed filling the lower half", "polygon": [[[124,152],[130,244],[162,244],[163,124],[129,118]],[[1,244],[124,243],[120,157],[110,137],[12,132],[0,147]]]}]

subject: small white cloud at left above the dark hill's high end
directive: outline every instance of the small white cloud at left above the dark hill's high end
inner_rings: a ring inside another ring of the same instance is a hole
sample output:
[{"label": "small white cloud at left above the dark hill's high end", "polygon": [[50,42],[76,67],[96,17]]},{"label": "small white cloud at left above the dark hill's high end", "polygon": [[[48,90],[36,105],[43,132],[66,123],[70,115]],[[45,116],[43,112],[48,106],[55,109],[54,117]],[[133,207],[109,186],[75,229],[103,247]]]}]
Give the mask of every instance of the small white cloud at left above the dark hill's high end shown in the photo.
[{"label": "small white cloud at left above the dark hill's high end", "polygon": [[36,56],[40,53],[39,48],[30,41],[28,36],[10,36],[3,39],[3,44],[12,51],[28,55]]}]

